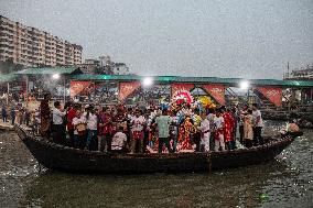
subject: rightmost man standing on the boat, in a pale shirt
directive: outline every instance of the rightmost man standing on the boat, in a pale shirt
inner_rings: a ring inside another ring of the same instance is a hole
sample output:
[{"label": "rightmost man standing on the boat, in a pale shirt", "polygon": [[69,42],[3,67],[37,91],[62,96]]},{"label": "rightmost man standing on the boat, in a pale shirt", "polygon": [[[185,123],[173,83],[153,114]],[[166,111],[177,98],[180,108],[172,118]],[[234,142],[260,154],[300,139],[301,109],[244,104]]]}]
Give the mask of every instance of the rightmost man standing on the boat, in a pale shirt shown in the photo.
[{"label": "rightmost man standing on the boat, in a pale shirt", "polygon": [[253,145],[262,145],[263,139],[261,136],[263,120],[261,111],[258,109],[257,103],[252,103],[252,119],[253,119]]}]

